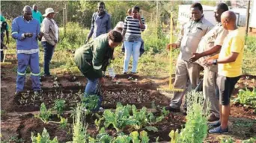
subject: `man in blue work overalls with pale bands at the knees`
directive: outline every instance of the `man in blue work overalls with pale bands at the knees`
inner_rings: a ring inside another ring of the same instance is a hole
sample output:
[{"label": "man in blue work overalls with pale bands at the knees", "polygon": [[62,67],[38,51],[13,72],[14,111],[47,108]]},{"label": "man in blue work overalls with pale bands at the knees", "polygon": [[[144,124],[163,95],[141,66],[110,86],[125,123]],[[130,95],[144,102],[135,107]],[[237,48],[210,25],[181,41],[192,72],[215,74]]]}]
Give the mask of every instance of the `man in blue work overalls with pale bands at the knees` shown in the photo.
[{"label": "man in blue work overalls with pale bands at the knees", "polygon": [[40,24],[32,19],[31,7],[23,8],[23,16],[16,17],[12,23],[12,37],[16,39],[18,71],[15,95],[20,95],[24,88],[25,71],[27,66],[31,69],[32,88],[34,93],[40,91],[39,48],[37,39],[40,39]]}]

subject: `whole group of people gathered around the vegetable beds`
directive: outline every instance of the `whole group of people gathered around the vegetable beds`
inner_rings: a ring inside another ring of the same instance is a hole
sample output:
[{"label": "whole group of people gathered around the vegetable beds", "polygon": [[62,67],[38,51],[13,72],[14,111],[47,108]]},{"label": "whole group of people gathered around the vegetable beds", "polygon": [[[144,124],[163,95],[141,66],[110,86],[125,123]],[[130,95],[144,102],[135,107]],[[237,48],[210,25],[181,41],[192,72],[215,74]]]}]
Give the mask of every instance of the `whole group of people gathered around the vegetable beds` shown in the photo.
[{"label": "whole group of people gathered around the vegetable beds", "polygon": [[[102,101],[97,87],[105,82],[103,71],[106,71],[110,60],[113,59],[115,47],[124,42],[123,72],[127,74],[132,55],[132,74],[136,74],[138,57],[144,52],[141,32],[145,29],[144,18],[139,14],[140,8],[137,6],[129,9],[124,22],[118,22],[113,30],[111,16],[106,13],[105,4],[100,2],[97,6],[98,11],[91,19],[91,31],[85,39],[85,44],[76,50],[74,56],[76,65],[88,80],[85,98],[88,95],[100,98],[95,110],[100,109]],[[225,3],[218,4],[214,10],[216,25],[204,17],[200,3],[192,4],[190,11],[191,19],[182,26],[177,42],[167,46],[169,50],[180,48],[174,88],[184,89],[184,92],[174,92],[174,98],[166,109],[172,112],[180,111],[184,95],[198,86],[199,73],[204,69],[204,107],[210,104],[208,121],[215,121],[210,124],[215,128],[209,132],[228,133],[231,93],[242,74],[244,32],[237,28],[237,17],[234,12],[228,10]],[[25,6],[23,15],[13,19],[11,35],[16,39],[18,58],[16,95],[23,90],[27,66],[31,68],[34,91],[40,91],[38,39],[44,48],[44,75],[51,75],[49,63],[58,43],[59,31],[52,8],[47,8],[43,16],[44,19],[34,5],[33,11],[31,7]],[[186,109],[186,103],[184,108]]]}]

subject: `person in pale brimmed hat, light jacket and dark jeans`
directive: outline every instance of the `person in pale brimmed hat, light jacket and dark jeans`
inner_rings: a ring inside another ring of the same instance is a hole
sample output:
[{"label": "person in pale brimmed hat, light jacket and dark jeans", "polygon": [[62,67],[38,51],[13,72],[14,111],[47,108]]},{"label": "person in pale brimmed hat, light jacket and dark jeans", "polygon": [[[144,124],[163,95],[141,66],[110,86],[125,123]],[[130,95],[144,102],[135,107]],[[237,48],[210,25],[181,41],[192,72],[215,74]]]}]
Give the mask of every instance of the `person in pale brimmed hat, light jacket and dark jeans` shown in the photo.
[{"label": "person in pale brimmed hat, light jacket and dark jeans", "polygon": [[53,19],[55,11],[51,7],[46,8],[46,13],[43,14],[43,16],[45,16],[41,29],[43,32],[42,45],[44,48],[43,71],[44,76],[48,77],[51,76],[49,72],[49,63],[52,60],[52,55],[58,42],[59,31],[58,25]]}]

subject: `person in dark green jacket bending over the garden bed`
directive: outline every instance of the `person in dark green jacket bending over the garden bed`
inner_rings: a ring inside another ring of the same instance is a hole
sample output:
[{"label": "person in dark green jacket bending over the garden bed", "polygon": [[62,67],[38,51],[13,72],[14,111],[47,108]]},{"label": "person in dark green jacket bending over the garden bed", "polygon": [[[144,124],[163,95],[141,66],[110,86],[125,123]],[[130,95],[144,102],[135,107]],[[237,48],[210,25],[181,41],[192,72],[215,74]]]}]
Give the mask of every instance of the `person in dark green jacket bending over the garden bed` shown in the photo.
[{"label": "person in dark green jacket bending over the garden bed", "polygon": [[109,65],[109,60],[112,59],[114,48],[120,45],[122,41],[121,33],[109,31],[108,34],[100,35],[76,50],[76,65],[88,80],[85,86],[85,99],[89,95],[99,96],[97,107],[93,111],[98,111],[102,102],[102,97],[97,88],[98,83],[103,85],[103,71],[106,71],[106,66]]}]

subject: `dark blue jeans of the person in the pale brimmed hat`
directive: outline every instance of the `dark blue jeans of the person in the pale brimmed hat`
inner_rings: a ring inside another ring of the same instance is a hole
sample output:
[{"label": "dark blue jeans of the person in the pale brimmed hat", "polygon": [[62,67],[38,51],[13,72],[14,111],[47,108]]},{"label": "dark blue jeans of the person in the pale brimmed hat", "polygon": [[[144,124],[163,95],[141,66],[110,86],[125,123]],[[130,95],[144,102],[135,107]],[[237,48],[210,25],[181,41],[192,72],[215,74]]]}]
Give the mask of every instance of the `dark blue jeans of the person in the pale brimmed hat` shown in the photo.
[{"label": "dark blue jeans of the person in the pale brimmed hat", "polygon": [[43,71],[45,75],[50,75],[49,73],[49,63],[52,60],[52,55],[54,52],[54,45],[49,44],[48,42],[42,42],[44,48],[44,61],[43,61]]}]

